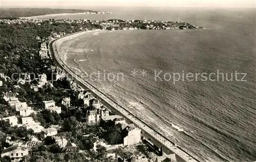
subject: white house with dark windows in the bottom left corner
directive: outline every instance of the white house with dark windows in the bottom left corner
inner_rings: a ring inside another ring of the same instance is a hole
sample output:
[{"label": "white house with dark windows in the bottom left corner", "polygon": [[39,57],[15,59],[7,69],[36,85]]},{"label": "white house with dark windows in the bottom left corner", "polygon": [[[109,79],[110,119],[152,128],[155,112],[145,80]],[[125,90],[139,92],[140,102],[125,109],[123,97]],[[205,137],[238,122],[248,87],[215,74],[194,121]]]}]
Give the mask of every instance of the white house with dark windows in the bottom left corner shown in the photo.
[{"label": "white house with dark windows in the bottom left corner", "polygon": [[23,156],[28,155],[29,152],[26,148],[18,147],[18,144],[4,149],[1,157],[9,156],[12,161],[19,161]]}]

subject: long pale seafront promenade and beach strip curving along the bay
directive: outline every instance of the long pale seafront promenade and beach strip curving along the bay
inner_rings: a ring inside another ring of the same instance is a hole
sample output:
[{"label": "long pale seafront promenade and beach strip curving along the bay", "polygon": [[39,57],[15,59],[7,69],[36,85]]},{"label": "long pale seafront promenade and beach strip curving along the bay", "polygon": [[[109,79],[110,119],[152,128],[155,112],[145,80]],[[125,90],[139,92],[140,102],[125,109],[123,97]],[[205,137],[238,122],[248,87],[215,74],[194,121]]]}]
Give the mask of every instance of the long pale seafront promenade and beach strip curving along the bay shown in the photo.
[{"label": "long pale seafront promenade and beach strip curving along the bay", "polygon": [[154,130],[152,127],[148,126],[146,123],[138,119],[134,114],[120,106],[114,100],[109,98],[108,96],[104,95],[100,90],[96,87],[82,79],[78,76],[74,71],[71,70],[61,59],[59,56],[60,52],[60,45],[62,42],[73,39],[80,35],[86,34],[88,32],[79,32],[72,35],[67,35],[55,39],[49,43],[50,55],[53,59],[56,60],[58,65],[63,68],[67,73],[69,73],[74,79],[76,79],[77,83],[84,89],[90,89],[98,98],[103,100],[105,103],[111,106],[112,109],[118,111],[123,117],[127,120],[132,121],[136,126],[138,126],[143,134],[147,138],[151,138],[153,143],[156,146],[163,146],[164,152],[175,153],[177,157],[177,161],[187,161],[187,162],[198,162],[199,160],[193,155],[190,155],[188,152],[180,148],[179,146],[175,145],[172,141],[168,140],[164,135],[159,133],[158,131]]}]

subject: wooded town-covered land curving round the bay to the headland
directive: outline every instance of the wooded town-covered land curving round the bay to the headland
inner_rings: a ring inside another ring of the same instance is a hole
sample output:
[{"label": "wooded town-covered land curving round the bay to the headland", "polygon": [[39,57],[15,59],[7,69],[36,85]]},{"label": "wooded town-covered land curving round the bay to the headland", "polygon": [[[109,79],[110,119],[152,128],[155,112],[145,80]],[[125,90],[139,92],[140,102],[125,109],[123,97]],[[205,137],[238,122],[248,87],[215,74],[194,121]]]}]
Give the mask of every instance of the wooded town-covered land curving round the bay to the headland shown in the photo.
[{"label": "wooded town-covered land curving round the bay to the headland", "polygon": [[96,29],[203,27],[145,18],[40,20],[22,16],[35,15],[0,19],[0,161],[199,161],[135,115],[120,110],[113,100],[98,95],[89,83],[84,86],[59,64],[56,55],[62,39]]}]

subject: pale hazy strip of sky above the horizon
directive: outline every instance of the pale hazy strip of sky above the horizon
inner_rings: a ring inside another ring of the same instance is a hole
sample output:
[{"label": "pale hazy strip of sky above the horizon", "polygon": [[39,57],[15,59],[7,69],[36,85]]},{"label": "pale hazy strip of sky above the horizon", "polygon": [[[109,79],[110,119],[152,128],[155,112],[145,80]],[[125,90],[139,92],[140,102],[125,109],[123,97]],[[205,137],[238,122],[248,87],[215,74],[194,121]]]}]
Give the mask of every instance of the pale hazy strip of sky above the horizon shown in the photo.
[{"label": "pale hazy strip of sky above the horizon", "polygon": [[81,8],[105,6],[255,8],[256,0],[0,0],[6,7]]}]

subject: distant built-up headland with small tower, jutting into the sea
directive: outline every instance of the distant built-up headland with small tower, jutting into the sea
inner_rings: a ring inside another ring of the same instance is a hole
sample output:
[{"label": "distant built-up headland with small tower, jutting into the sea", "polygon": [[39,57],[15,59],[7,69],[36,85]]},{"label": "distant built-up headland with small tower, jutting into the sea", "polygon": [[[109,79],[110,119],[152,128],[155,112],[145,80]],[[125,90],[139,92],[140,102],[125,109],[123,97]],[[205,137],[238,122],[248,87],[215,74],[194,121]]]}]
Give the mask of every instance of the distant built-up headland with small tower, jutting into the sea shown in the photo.
[{"label": "distant built-up headland with small tower, jutting into the sea", "polygon": [[[102,12],[100,12],[102,13]],[[104,12],[105,13],[105,12]],[[16,20],[0,20],[0,23],[7,23],[7,24],[20,24],[22,22],[33,22],[37,25],[41,25],[46,20],[36,20],[36,19],[16,19]],[[93,25],[94,28],[101,29],[101,30],[137,30],[137,29],[145,29],[145,30],[169,30],[169,29],[203,29],[203,27],[197,27],[191,25],[187,22],[182,21],[159,21],[159,20],[121,20],[121,19],[110,19],[110,20],[67,20],[67,19],[58,19],[58,20],[47,20],[50,21],[50,24],[53,22],[58,23],[69,23],[69,24],[79,24],[80,30],[87,30],[88,26]],[[74,28],[74,26],[72,26]],[[63,33],[54,33],[52,34],[51,38],[58,38],[63,35]],[[66,34],[66,33],[65,33]],[[64,34],[64,35],[65,35]],[[42,53],[44,56],[44,53]]]}]

